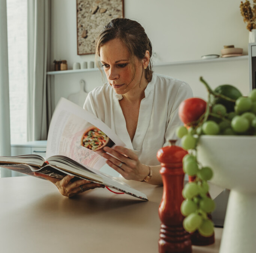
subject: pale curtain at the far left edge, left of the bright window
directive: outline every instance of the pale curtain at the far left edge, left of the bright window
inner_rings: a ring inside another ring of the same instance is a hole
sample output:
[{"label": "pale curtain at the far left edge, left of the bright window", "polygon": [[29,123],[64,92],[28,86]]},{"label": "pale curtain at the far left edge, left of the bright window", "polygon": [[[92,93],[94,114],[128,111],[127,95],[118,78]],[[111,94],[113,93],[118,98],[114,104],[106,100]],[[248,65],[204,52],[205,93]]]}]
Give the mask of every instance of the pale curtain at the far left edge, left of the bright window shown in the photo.
[{"label": "pale curtain at the far left edge, left of the bright window", "polygon": [[[10,156],[10,105],[6,1],[0,1],[0,155]],[[1,177],[11,171],[1,168]]]}]

